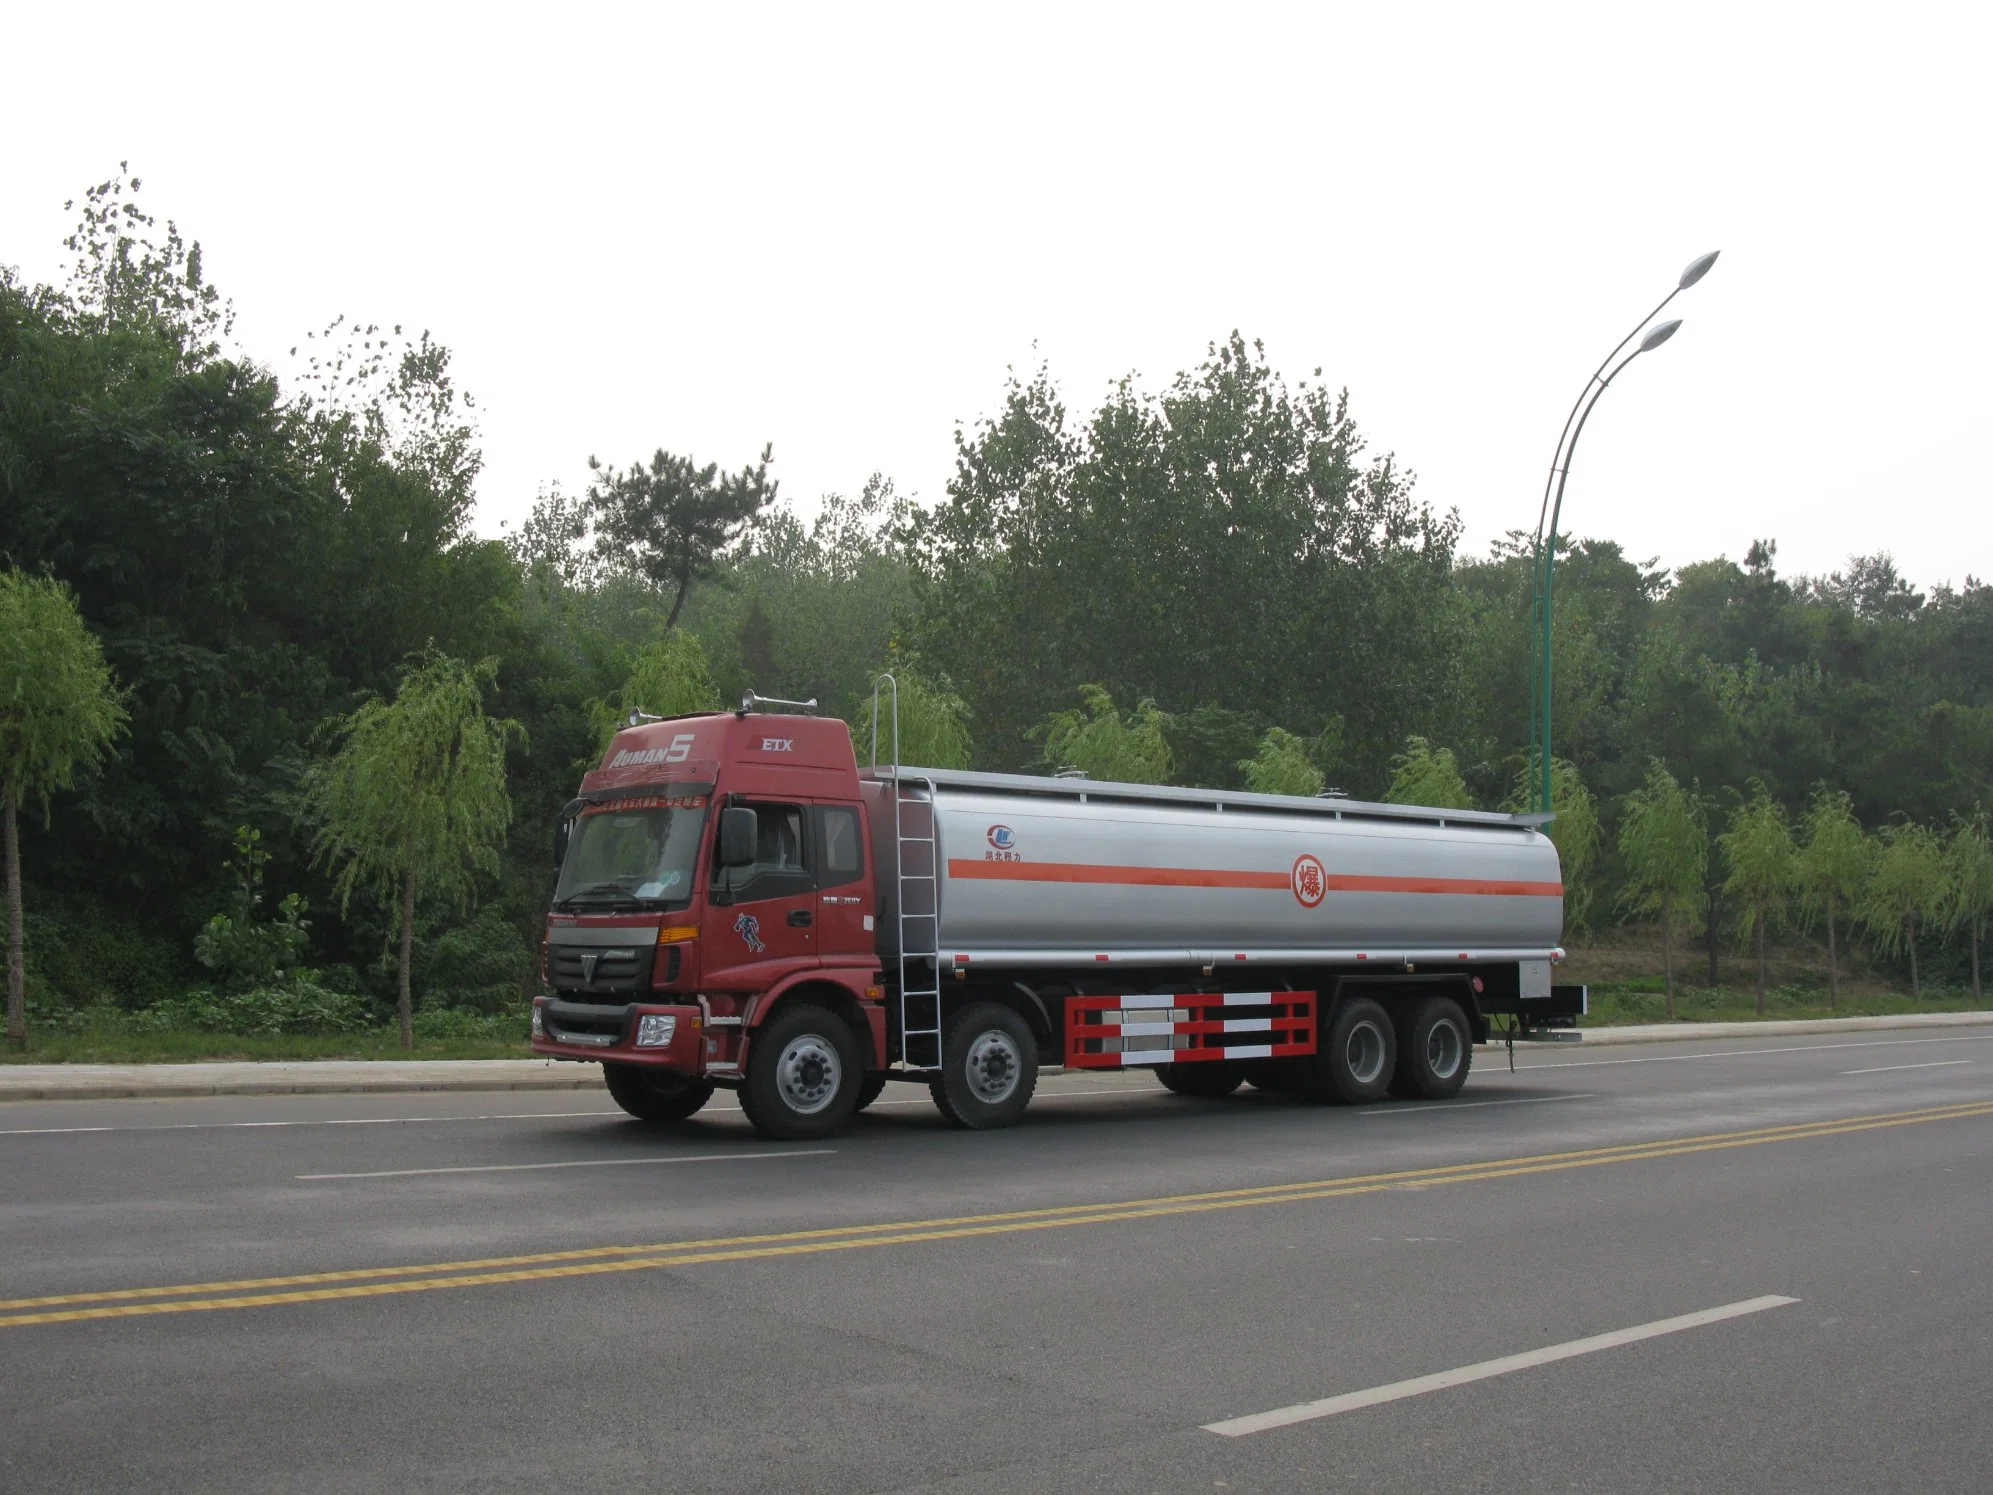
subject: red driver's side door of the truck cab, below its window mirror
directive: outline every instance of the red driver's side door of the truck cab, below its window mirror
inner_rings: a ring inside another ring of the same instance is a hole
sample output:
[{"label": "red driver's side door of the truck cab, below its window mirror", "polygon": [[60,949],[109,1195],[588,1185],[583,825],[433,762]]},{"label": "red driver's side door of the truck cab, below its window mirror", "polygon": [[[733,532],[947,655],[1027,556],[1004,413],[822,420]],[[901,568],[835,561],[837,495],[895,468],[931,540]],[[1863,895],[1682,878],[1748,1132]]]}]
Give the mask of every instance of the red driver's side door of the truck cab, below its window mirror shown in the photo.
[{"label": "red driver's side door of the truck cab, below its window mirror", "polygon": [[755,859],[708,871],[702,945],[706,987],[761,991],[799,965],[817,963],[815,825],[807,805],[749,799]]}]

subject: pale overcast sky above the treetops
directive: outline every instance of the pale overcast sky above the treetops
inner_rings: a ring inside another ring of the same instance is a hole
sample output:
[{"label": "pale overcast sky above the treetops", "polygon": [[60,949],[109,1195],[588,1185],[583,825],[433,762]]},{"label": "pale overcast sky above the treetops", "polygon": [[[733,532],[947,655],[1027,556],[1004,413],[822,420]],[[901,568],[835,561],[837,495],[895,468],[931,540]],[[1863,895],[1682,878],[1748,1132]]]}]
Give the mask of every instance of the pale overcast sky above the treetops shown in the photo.
[{"label": "pale overcast sky above the treetops", "polygon": [[0,263],[120,159],[237,335],[430,329],[478,524],[656,447],[805,510],[935,500],[1046,361],[1074,409],[1240,329],[1347,385],[1483,550],[1612,387],[1568,528],[1664,564],[1993,574],[1985,6],[58,6],[4,28]]}]

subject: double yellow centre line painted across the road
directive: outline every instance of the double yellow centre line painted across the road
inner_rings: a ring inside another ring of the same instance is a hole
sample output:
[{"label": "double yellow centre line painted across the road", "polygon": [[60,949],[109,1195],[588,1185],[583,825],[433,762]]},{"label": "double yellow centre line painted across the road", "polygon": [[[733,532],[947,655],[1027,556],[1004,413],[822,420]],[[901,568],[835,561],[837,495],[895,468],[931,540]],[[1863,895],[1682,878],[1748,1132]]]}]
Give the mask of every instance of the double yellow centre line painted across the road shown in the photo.
[{"label": "double yellow centre line painted across the road", "polygon": [[1658,1142],[1582,1148],[1578,1152],[1543,1152],[1527,1158],[1455,1162],[1443,1168],[1407,1168],[1387,1174],[1321,1178],[1303,1184],[1268,1184],[1262,1188],[1226,1188],[1206,1194],[1170,1194],[1162,1198],[1122,1200],[1114,1204],[1066,1204],[1050,1210],[1010,1210],[1004,1214],[965,1214],[941,1220],[897,1220],[875,1226],[787,1230],[767,1236],[721,1236],[713,1240],[680,1240],[650,1246],[592,1246],[574,1252],[492,1256],[470,1262],[427,1262],[419,1266],[355,1268],[351,1272],[305,1272],[287,1278],[243,1278],[237,1282],[187,1282],[169,1288],[122,1288],[116,1292],[72,1292],[48,1298],[6,1298],[0,1300],[0,1328],[22,1328],[28,1324],[76,1324],[80,1320],[100,1318],[140,1318],[145,1314],[205,1314],[219,1308],[323,1304],[345,1298],[387,1298],[405,1292],[440,1292],[444,1288],[496,1288],[510,1282],[592,1278],[606,1272],[650,1272],[654,1268],[706,1266],[712,1262],[755,1262],[775,1256],[817,1256],[823,1252],[855,1252],[875,1246],[913,1246],[931,1240],[1010,1236],[1026,1230],[1108,1226],[1126,1220],[1154,1220],[1170,1214],[1244,1210],[1262,1204],[1295,1204],[1299,1200],[1333,1200],[1347,1198],[1351,1194],[1377,1194],[1391,1188],[1477,1184],[1491,1178],[1521,1178],[1525,1174],[1563,1172],[1566,1168],[1596,1168],[1612,1162],[1680,1158],[1692,1152],[1722,1152],[1726,1148],[1764,1146],[1766,1142],[1802,1142],[1816,1136],[1873,1132],[1885,1126],[1917,1126],[1923,1122],[1967,1120],[1973,1116],[1993,1116],[1993,1100],[1927,1106],[1923,1110],[1877,1112],[1869,1116],[1838,1116],[1832,1120],[1800,1122],[1794,1126],[1764,1126],[1748,1132],[1710,1132],[1704,1136],[1664,1138]]}]

